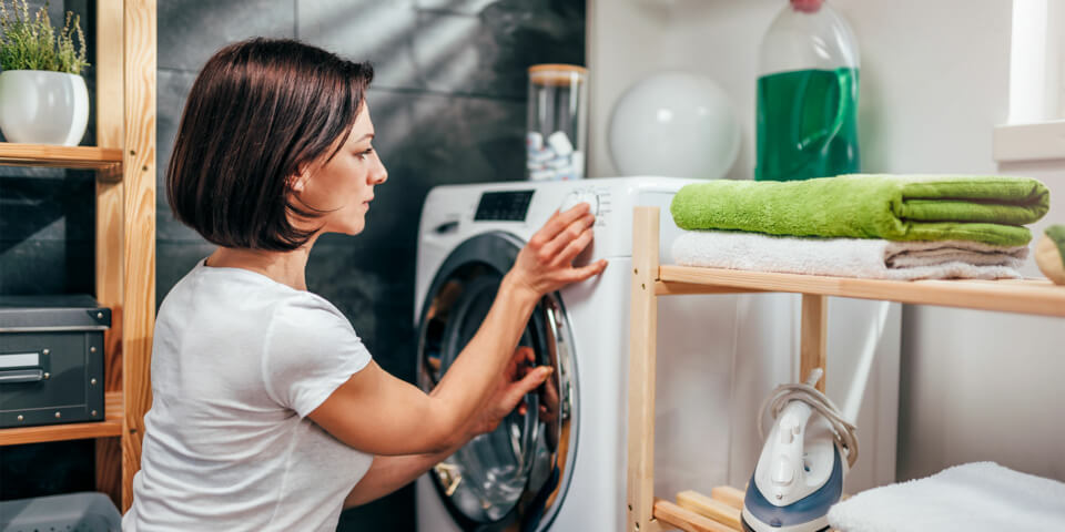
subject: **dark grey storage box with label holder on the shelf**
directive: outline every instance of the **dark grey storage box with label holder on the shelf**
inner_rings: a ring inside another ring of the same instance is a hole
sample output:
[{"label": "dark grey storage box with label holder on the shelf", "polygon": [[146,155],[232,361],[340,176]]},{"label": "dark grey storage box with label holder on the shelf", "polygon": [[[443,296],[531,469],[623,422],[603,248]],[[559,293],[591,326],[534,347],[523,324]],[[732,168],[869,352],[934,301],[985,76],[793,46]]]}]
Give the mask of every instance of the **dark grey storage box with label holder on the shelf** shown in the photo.
[{"label": "dark grey storage box with label holder on the shelf", "polygon": [[0,428],[103,421],[103,331],[90,296],[0,297]]}]

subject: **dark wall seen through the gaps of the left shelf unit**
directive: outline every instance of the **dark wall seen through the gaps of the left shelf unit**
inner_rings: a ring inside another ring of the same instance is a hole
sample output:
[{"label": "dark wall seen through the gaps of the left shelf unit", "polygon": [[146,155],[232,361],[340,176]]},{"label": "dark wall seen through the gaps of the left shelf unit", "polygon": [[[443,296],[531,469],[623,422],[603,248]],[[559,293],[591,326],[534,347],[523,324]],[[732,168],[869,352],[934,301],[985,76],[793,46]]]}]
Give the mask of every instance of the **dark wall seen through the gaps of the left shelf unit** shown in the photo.
[{"label": "dark wall seen through the gaps of the left shelf unit", "polygon": [[[52,0],[48,13],[61,25],[73,11],[89,30],[95,25],[90,3]],[[30,0],[30,13],[43,6]],[[91,59],[92,32],[85,38]],[[94,70],[83,75],[92,101]],[[82,144],[95,143],[94,123],[90,111]],[[91,172],[0,166],[0,295],[92,294],[93,183]],[[93,460],[92,440],[0,447],[0,500],[92,490]]]}]

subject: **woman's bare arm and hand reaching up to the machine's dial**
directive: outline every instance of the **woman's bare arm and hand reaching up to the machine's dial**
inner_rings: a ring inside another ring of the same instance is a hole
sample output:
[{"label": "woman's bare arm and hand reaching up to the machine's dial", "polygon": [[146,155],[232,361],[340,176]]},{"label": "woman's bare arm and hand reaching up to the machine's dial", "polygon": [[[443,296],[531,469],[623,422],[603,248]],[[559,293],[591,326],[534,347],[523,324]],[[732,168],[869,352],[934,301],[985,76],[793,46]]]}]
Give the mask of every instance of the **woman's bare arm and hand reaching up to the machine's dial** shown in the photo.
[{"label": "woman's bare arm and hand reaching up to the machine's dial", "polygon": [[435,454],[464,441],[463,427],[494,391],[539,298],[606,267],[605,260],[572,266],[591,242],[594,222],[587,204],[580,204],[556,213],[529,239],[504,276],[485,321],[433,393],[371,362],[311,412],[311,419],[348,446],[374,454]]}]

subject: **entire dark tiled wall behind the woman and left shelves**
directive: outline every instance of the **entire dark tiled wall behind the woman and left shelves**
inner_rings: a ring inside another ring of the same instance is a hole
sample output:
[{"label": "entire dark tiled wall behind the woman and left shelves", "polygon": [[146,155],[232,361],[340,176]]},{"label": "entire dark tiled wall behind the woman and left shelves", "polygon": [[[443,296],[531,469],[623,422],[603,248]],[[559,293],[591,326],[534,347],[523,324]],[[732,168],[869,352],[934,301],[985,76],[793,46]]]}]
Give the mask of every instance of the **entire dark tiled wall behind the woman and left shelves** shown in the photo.
[{"label": "entire dark tiled wall behind the woman and left shelves", "polygon": [[[52,0],[82,14],[89,0]],[[43,0],[30,1],[31,9]],[[162,187],[185,95],[222,45],[254,35],[298,38],[377,72],[369,106],[389,171],[364,234],[329,235],[312,253],[311,289],[343,310],[378,364],[414,374],[415,237],[422,202],[439,184],[519,180],[526,68],[584,64],[582,0],[159,0],[156,294],[212,246],[173,221]],[[90,58],[93,34],[87,33]],[[94,74],[85,72],[90,98]],[[94,144],[93,117],[83,144]],[[0,167],[0,294],[92,293],[91,173]],[[92,442],[0,448],[0,499],[93,489]],[[341,530],[412,530],[413,490],[345,512]]]}]

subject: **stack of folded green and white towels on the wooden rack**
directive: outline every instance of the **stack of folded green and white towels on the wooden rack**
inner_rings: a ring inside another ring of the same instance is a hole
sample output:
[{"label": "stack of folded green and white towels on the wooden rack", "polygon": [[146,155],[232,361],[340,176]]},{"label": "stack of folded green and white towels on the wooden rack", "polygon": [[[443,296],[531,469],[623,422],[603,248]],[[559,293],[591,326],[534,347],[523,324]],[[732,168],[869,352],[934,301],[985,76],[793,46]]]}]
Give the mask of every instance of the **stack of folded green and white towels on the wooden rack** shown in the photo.
[{"label": "stack of folded green and white towels on the wooden rack", "polygon": [[[1038,181],[1005,176],[844,175],[802,182],[714,181],[670,207],[690,232],[687,266],[885,279],[1020,277],[1049,209]],[[694,229],[694,231],[692,231]],[[769,236],[775,235],[775,236]]]}]

